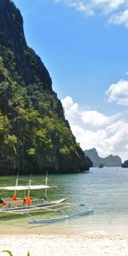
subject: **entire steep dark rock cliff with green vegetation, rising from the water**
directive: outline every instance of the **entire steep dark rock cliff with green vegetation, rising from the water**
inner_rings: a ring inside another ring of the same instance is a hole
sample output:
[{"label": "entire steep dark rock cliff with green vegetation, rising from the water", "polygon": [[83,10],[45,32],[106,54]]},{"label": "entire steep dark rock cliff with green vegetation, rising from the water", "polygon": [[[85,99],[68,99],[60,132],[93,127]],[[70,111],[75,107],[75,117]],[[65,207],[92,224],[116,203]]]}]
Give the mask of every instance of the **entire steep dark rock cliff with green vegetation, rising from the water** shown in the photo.
[{"label": "entire steep dark rock cliff with green vegetation, rising from the water", "polygon": [[48,70],[26,44],[19,9],[0,0],[0,174],[83,172],[90,166]]}]

